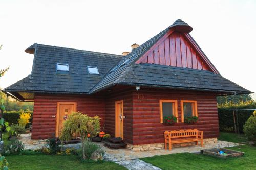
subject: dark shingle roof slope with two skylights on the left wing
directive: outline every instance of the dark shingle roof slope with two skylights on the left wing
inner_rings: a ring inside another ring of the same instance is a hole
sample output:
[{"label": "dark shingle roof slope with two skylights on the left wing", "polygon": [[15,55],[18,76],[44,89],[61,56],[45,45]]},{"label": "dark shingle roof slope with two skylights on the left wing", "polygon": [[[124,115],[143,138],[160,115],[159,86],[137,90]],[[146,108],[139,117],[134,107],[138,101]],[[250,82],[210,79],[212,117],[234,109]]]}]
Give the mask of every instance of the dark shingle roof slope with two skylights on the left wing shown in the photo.
[{"label": "dark shingle roof slope with two skylights on the left wing", "polygon": [[[28,49],[34,48],[31,74],[5,90],[88,93],[122,57],[41,44]],[[57,63],[69,64],[69,72],[56,72]],[[87,66],[98,67],[99,75],[89,74]]]}]

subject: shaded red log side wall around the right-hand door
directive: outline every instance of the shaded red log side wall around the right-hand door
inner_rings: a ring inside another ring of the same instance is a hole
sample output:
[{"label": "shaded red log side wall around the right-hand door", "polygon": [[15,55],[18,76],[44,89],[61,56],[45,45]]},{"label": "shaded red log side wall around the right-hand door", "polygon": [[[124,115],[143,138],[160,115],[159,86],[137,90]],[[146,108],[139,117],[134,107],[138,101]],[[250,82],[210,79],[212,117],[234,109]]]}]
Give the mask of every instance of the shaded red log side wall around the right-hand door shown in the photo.
[{"label": "shaded red log side wall around the right-hand door", "polygon": [[105,131],[115,137],[115,102],[123,100],[123,138],[133,144],[133,102],[132,90],[125,89],[106,95]]}]

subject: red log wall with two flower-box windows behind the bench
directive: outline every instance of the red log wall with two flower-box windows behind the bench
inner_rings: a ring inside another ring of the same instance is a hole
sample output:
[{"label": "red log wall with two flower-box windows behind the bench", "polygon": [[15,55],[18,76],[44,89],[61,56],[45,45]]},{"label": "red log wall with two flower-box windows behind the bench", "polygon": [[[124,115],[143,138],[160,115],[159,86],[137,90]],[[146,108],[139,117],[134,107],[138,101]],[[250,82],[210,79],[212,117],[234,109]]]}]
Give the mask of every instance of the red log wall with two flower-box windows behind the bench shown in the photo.
[{"label": "red log wall with two flower-box windows behind the bench", "polygon": [[[179,123],[160,123],[160,99],[178,100]],[[181,123],[181,100],[196,100],[198,122],[194,125]],[[210,92],[141,89],[133,91],[133,144],[163,143],[164,131],[193,129],[204,131],[204,138],[219,135],[216,94]]]}]

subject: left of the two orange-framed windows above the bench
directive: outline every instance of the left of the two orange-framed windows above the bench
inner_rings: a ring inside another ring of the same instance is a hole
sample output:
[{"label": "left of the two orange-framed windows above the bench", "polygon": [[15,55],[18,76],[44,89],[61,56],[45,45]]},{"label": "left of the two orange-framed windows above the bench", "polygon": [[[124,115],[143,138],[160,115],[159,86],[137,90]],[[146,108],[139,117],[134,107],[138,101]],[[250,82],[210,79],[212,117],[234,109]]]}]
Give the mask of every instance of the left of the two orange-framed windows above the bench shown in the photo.
[{"label": "left of the two orange-framed windows above the bench", "polygon": [[175,116],[178,118],[177,109],[177,100],[160,100],[160,123],[163,123],[163,117]]}]

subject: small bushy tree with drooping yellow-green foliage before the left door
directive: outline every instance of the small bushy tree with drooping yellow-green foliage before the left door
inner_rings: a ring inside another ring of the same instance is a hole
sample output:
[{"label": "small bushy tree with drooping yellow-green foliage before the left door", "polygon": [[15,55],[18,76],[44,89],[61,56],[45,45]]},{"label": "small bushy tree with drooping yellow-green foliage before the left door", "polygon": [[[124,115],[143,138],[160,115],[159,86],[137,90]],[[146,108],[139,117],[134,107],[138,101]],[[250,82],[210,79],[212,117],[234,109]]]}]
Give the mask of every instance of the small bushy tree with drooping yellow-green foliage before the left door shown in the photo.
[{"label": "small bushy tree with drooping yellow-green foliage before the left door", "polygon": [[82,114],[81,112],[73,112],[68,115],[68,119],[64,122],[63,129],[61,131],[60,140],[68,141],[73,137],[80,137],[82,142],[82,157],[86,157],[86,148],[84,145],[88,142],[87,135],[96,136],[100,131],[100,118],[98,116],[90,117]]}]

